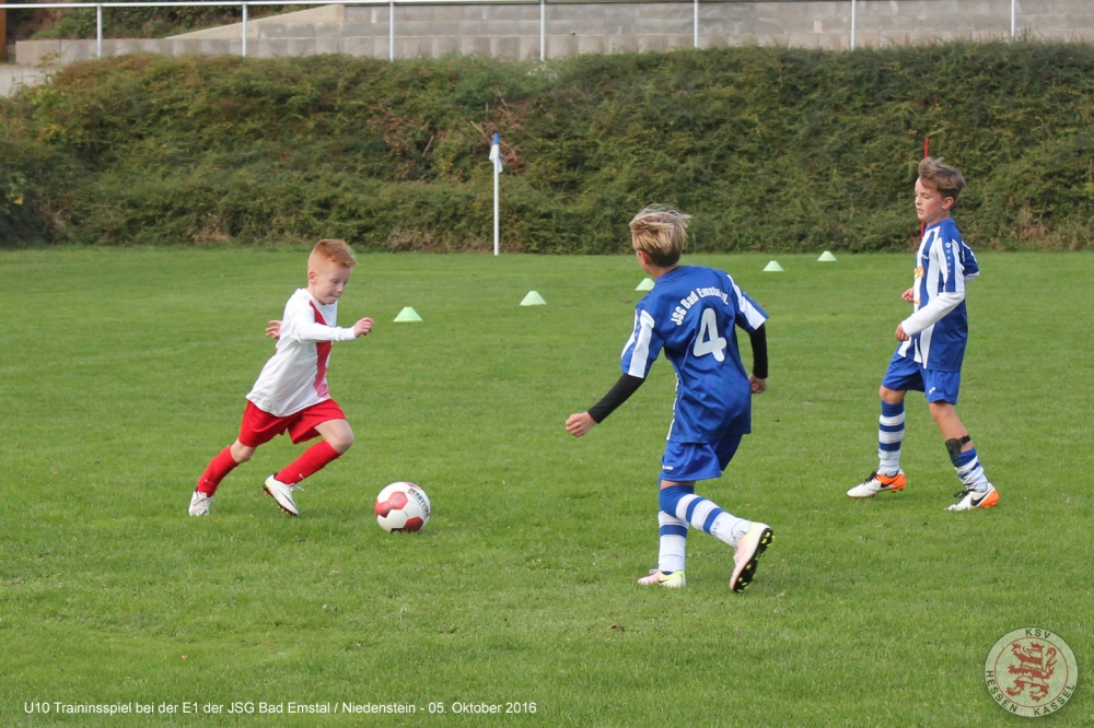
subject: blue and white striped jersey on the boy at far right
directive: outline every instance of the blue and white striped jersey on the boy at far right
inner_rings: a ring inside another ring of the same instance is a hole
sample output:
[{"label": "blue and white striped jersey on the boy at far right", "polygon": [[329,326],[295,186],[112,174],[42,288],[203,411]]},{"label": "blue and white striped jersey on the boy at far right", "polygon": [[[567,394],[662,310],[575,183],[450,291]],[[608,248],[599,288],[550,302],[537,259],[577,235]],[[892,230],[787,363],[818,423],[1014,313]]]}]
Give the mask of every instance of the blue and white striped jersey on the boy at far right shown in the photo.
[{"label": "blue and white striped jersey on the boy at far right", "polygon": [[[915,359],[928,369],[961,372],[965,345],[968,343],[965,282],[979,274],[976,256],[965,245],[953,219],[946,218],[923,231],[923,239],[916,254],[916,312],[921,312],[935,302],[932,308],[941,313],[948,307],[939,307],[946,298],[959,298],[959,303],[938,320],[911,334],[897,352],[901,356]],[[908,320],[915,318],[916,315],[912,315]],[[927,318],[932,319],[934,316],[928,315]]]}]

